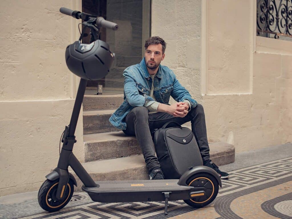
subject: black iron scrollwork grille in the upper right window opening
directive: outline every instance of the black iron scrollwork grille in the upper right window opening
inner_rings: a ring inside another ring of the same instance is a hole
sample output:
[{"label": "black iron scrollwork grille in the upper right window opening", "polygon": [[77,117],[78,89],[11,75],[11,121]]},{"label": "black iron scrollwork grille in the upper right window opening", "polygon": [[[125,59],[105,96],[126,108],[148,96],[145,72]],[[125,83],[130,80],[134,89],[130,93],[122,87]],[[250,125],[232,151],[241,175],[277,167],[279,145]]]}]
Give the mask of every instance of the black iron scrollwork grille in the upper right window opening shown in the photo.
[{"label": "black iron scrollwork grille in the upper right window opening", "polygon": [[292,0],[257,0],[257,35],[292,37]]}]

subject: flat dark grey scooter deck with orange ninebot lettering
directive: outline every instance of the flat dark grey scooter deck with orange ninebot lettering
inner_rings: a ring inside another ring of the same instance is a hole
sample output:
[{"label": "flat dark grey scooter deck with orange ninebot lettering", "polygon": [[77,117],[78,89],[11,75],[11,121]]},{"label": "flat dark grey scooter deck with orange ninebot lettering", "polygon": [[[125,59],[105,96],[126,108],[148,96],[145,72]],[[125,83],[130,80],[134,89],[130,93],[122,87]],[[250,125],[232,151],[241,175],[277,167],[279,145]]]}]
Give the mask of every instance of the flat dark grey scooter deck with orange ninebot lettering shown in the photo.
[{"label": "flat dark grey scooter deck with orange ninebot lettering", "polygon": [[178,180],[127,180],[99,181],[97,187],[82,186],[93,201],[164,201],[164,192],[170,192],[169,200],[190,199],[191,193],[204,192],[204,188],[178,185]]}]

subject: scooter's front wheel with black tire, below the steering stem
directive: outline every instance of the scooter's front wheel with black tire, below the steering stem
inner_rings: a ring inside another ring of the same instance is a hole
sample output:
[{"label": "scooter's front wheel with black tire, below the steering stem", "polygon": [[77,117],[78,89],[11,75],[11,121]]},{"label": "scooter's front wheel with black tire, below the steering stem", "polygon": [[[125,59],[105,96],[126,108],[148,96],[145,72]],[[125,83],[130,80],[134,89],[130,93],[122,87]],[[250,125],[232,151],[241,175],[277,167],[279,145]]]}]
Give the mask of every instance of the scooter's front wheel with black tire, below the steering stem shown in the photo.
[{"label": "scooter's front wheel with black tire, below the steering stem", "polygon": [[39,189],[38,193],[39,205],[46,211],[49,212],[59,211],[60,209],[64,208],[71,200],[71,197],[74,192],[74,184],[72,180],[69,179],[63,198],[61,200],[55,198],[58,184],[59,179],[54,181],[46,180]]}]

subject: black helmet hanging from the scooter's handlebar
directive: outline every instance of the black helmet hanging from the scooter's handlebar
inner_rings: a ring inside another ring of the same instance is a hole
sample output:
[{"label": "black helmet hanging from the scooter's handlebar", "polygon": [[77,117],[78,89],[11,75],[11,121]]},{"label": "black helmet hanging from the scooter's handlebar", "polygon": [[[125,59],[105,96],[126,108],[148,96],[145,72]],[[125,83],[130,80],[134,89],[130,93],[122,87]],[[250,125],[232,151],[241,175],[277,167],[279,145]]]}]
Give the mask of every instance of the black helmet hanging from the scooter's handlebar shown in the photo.
[{"label": "black helmet hanging from the scooter's handlebar", "polygon": [[98,80],[109,72],[114,55],[104,41],[91,44],[76,41],[67,46],[65,58],[71,72],[86,80]]}]

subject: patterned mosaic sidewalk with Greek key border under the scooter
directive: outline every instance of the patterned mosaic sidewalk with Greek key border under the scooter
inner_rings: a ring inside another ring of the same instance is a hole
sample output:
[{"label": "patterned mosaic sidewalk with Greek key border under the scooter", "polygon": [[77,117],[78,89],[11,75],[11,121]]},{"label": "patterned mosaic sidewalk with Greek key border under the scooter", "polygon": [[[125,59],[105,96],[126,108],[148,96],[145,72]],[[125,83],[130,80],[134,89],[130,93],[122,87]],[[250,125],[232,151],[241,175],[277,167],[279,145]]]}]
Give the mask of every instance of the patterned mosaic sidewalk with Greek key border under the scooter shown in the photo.
[{"label": "patterned mosaic sidewalk with Greek key border under the scooter", "polygon": [[[20,208],[14,208],[13,213],[14,218],[23,219],[292,218],[292,157],[229,173],[230,179],[222,180],[223,187],[213,203],[196,209],[183,201],[169,201],[167,216],[164,215],[164,202],[98,203],[91,201],[83,192],[74,193],[72,201],[55,213],[42,211],[38,204],[26,214],[29,216],[21,217],[25,209],[21,211]],[[34,209],[37,211],[34,212]],[[0,209],[0,215],[0,218],[13,218],[5,216],[5,209]]]}]

